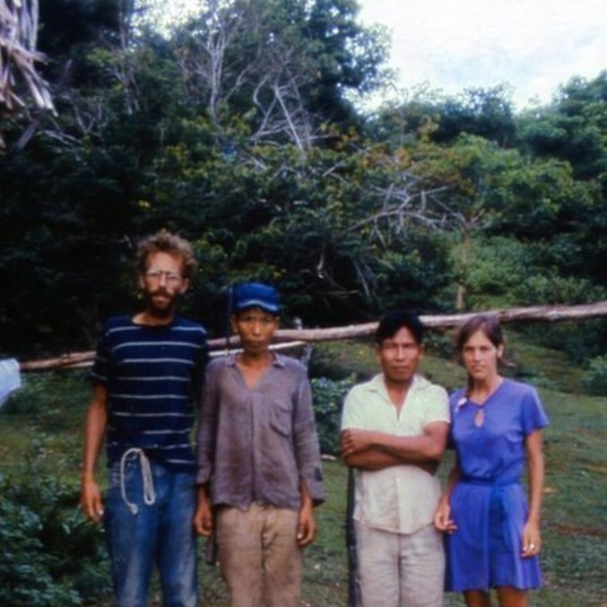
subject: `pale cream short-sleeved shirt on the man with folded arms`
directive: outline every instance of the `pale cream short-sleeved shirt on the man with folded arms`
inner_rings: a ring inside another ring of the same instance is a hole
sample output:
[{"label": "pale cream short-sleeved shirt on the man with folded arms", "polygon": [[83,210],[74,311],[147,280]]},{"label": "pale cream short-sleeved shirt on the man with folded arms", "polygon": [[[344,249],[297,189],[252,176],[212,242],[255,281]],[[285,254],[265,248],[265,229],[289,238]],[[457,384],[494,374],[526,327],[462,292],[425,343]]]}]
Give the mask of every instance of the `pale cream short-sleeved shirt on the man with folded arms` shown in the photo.
[{"label": "pale cream short-sleeved shirt on the man with folded arms", "polygon": [[[447,391],[415,375],[399,415],[387,394],[383,374],[354,386],[343,405],[342,429],[369,429],[400,437],[423,434],[429,423],[449,423]],[[440,483],[416,465],[356,470],[354,520],[393,533],[414,533],[429,525]]]}]

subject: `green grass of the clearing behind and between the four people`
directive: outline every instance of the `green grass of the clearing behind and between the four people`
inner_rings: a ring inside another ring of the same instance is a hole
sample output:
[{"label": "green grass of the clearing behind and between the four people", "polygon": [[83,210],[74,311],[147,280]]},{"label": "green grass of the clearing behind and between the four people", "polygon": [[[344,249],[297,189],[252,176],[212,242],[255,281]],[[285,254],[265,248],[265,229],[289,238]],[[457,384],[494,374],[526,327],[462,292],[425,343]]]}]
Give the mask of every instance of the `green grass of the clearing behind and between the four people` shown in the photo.
[{"label": "green grass of the clearing behind and between the four people", "polygon": [[[510,332],[508,337],[515,373],[522,371],[523,377],[538,385],[551,418],[551,426],[544,434],[545,586],[531,594],[531,604],[605,605],[607,532],[603,521],[607,453],[603,443],[607,398],[580,394],[577,366],[561,352],[525,343],[522,336]],[[444,350],[430,348],[421,370],[434,381],[453,388],[462,384],[464,373],[453,360],[433,355]],[[368,377],[375,364],[369,343],[326,343],[315,346],[312,369],[323,370],[335,378],[351,373]],[[37,474],[54,474],[77,485],[82,420],[88,398],[85,371],[26,376],[22,390],[0,414],[0,473],[35,470]],[[449,456],[441,466],[441,478],[447,472],[448,460]],[[346,471],[338,461],[326,461],[324,467],[328,499],[317,509],[320,534],[317,542],[307,549],[304,561],[302,604],[315,607],[345,605],[347,598],[343,528]],[[201,564],[201,574],[203,604],[212,607],[227,604],[218,568]],[[460,597],[447,597],[447,605],[461,604]]]}]

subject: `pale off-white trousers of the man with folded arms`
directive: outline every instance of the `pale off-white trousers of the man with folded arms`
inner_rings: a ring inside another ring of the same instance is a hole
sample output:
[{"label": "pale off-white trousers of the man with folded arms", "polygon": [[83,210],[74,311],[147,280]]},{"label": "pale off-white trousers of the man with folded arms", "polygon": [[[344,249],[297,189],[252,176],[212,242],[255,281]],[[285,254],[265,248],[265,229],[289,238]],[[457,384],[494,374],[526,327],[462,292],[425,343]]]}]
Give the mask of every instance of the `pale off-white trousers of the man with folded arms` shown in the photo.
[{"label": "pale off-white trousers of the man with folded arms", "polygon": [[356,523],[363,607],[441,607],[443,542],[432,525],[410,534]]}]

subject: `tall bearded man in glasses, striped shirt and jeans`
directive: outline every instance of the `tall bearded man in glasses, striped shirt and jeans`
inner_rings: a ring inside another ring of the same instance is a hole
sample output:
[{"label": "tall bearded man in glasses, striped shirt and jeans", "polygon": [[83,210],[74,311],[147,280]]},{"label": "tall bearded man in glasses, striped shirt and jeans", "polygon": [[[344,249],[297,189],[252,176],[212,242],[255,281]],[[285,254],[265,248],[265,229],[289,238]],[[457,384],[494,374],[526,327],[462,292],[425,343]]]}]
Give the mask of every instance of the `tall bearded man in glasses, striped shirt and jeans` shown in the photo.
[{"label": "tall bearded man in glasses, striped shirt and jeans", "polygon": [[[196,262],[186,240],[160,231],[139,243],[143,310],[109,318],[91,377],[81,505],[103,521],[119,607],[144,607],[154,565],[163,603],[195,607],[195,401],[207,358],[202,325],[177,315]],[[105,504],[95,467],[105,440]]]}]

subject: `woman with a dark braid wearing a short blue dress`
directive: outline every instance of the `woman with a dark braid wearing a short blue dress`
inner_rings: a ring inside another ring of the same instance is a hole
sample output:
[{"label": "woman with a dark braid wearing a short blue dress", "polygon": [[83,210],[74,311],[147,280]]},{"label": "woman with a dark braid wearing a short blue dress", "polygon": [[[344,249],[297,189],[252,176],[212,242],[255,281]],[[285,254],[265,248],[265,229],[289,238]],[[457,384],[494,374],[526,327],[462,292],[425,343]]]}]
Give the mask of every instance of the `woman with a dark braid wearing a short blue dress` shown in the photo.
[{"label": "woman with a dark braid wearing a short blue dress", "polygon": [[[478,315],[456,334],[468,385],[450,397],[455,466],[435,525],[446,533],[446,589],[469,607],[526,605],[542,585],[540,508],[542,428],[548,418],[532,386],[502,377],[504,341],[497,317]],[[528,472],[528,495],[521,484]]]}]

